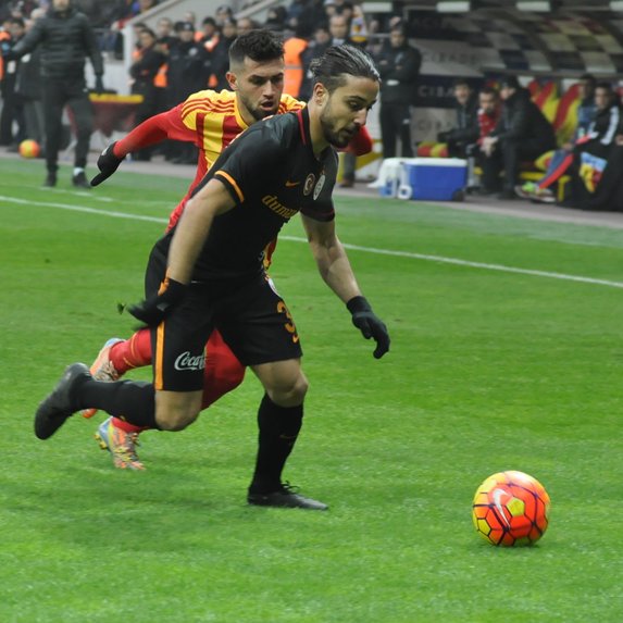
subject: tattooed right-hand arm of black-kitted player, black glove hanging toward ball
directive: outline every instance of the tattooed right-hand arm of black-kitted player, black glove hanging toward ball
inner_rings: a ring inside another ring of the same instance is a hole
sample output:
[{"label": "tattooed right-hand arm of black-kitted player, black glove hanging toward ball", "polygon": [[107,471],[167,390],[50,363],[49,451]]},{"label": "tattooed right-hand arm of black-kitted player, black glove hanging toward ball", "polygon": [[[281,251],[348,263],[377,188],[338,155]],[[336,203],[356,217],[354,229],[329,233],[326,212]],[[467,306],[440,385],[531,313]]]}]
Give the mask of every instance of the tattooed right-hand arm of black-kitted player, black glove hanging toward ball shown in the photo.
[{"label": "tattooed right-hand arm of black-kitted player, black glove hanging toward ball", "polygon": [[381,359],[389,350],[389,334],[361,294],[348,256],[335,232],[335,222],[315,221],[301,214],[308,241],[319,272],[328,287],[346,303],[352,324],[365,339],[376,341],[374,357]]}]

